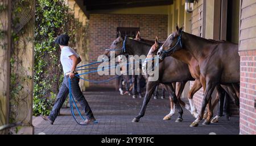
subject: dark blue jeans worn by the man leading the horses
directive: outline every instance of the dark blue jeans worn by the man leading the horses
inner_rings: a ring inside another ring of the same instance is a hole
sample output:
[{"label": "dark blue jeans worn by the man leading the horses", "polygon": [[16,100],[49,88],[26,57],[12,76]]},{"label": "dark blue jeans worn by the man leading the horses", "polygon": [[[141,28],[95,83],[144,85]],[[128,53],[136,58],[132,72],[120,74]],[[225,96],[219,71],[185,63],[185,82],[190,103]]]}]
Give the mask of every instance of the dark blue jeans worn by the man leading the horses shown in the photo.
[{"label": "dark blue jeans worn by the man leading the horses", "polygon": [[[65,102],[65,99],[69,94],[68,78],[69,78],[68,76],[64,77],[64,80],[60,87],[60,91],[57,95],[57,100],[54,103],[51,114],[49,115],[49,119],[51,119],[52,121],[54,121],[57,118],[60,108]],[[84,95],[82,94],[82,91],[79,86],[79,81],[80,81],[80,78],[78,77],[74,77],[71,79],[72,96],[80,103],[82,109],[85,111],[86,118],[92,119],[94,118],[92,110],[90,110],[90,106],[88,105],[88,102],[86,101]]]}]

